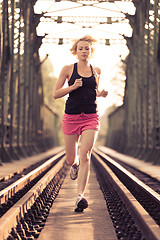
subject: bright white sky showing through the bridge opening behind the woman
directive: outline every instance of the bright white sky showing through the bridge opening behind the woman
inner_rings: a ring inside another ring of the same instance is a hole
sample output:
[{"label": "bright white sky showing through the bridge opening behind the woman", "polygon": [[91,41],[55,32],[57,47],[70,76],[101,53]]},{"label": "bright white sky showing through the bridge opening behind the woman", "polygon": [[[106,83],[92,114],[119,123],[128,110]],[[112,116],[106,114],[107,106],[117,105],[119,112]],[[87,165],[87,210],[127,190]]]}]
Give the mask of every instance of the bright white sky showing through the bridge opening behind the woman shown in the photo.
[{"label": "bright white sky showing through the bridge opening behind the woman", "polygon": [[[99,113],[102,116],[108,107],[112,105],[120,106],[123,103],[125,84],[120,85],[118,83],[121,79],[117,79],[117,84],[115,81],[113,83],[112,79],[117,71],[117,64],[121,59],[125,59],[129,53],[122,35],[131,36],[132,29],[128,20],[125,20],[123,13],[133,15],[135,14],[135,8],[132,2],[117,1],[116,4],[104,2],[96,4],[94,7],[89,6],[91,1],[79,2],[86,3],[87,6],[82,7],[81,4],[70,1],[55,3],[52,0],[38,0],[36,2],[34,6],[35,13],[46,12],[46,17],[41,18],[41,23],[37,27],[37,34],[39,36],[47,34],[46,38],[48,38],[47,41],[43,40],[40,55],[43,58],[45,54],[49,54],[54,68],[54,75],[58,77],[64,65],[77,61],[76,57],[70,53],[72,39],[77,39],[86,34],[96,38],[98,40],[96,51],[90,63],[93,66],[100,67],[102,74],[99,87],[109,92],[107,98],[98,98]],[[54,20],[50,21],[47,16],[51,16]],[[67,22],[58,24],[55,22],[57,16],[66,16],[66,19],[64,19],[66,21],[76,19],[76,24]],[[107,17],[112,17],[112,21],[119,20],[119,22],[112,24],[96,23],[97,19],[103,22],[107,21]],[[82,19],[84,20],[82,21]],[[90,28],[91,25],[92,28]],[[59,38],[64,38],[63,45],[58,45]],[[112,39],[110,40],[110,46],[104,44],[105,39]],[[120,78],[125,81],[125,76],[120,76]],[[122,97],[119,94],[117,95],[117,92],[121,92]]]}]

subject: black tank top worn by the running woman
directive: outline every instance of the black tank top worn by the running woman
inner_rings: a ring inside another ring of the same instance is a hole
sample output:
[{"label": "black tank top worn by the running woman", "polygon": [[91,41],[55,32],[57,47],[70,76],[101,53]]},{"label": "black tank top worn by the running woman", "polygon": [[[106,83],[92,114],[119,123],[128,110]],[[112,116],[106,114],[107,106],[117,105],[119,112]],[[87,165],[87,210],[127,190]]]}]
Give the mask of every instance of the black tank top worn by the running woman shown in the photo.
[{"label": "black tank top worn by the running woman", "polygon": [[66,101],[65,113],[67,114],[81,114],[96,113],[96,87],[97,82],[93,73],[93,67],[90,65],[92,75],[90,77],[82,77],[77,72],[77,63],[74,64],[74,69],[68,85],[71,86],[76,79],[82,77],[83,85],[76,90],[69,93]]}]

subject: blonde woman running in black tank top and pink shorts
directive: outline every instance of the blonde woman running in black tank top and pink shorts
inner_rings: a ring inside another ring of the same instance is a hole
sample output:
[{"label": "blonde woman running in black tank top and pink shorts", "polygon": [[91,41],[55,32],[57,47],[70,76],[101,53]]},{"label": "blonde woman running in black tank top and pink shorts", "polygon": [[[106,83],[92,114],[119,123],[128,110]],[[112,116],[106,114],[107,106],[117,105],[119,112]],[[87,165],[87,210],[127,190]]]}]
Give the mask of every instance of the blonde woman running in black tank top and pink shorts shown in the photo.
[{"label": "blonde woman running in black tank top and pink shorts", "polygon": [[[108,92],[98,90],[101,70],[93,67],[89,60],[94,52],[91,36],[76,40],[71,53],[77,56],[78,62],[62,68],[54,89],[54,98],[69,97],[65,105],[62,129],[65,140],[66,161],[70,168],[70,177],[77,181],[76,212],[83,212],[88,207],[84,197],[90,173],[90,156],[100,129],[100,118],[97,110],[96,97],[106,97]],[[63,87],[68,81],[68,87]],[[79,159],[77,158],[78,142]]]}]

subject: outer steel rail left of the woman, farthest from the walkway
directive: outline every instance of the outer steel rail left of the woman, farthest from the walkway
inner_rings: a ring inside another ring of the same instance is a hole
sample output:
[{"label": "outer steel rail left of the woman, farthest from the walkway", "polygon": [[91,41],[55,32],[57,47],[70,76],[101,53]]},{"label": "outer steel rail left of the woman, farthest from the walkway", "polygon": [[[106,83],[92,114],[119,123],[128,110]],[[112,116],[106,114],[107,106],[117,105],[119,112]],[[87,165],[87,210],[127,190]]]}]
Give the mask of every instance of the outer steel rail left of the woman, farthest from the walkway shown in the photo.
[{"label": "outer steel rail left of the woman, farthest from the walkway", "polygon": [[54,157],[47,160],[38,168],[34,169],[27,175],[23,176],[22,178],[18,179],[16,182],[11,184],[10,186],[6,187],[5,189],[0,191],[0,204],[5,203],[10,197],[14,196],[20,189],[22,189],[27,183],[32,181],[46,169],[48,169],[54,162],[56,162],[59,158],[61,158],[65,154],[65,151],[61,151]]}]

